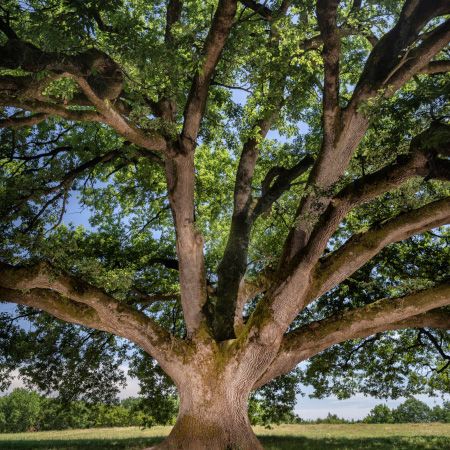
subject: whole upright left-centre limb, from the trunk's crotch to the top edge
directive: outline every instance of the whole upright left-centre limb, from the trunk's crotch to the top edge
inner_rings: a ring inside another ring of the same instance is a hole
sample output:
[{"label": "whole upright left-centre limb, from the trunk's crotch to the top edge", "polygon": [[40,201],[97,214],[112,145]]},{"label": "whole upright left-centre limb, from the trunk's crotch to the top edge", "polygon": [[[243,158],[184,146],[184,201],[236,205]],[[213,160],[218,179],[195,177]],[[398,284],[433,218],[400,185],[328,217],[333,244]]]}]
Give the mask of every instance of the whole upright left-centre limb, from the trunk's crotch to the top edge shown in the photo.
[{"label": "whole upright left-centre limb, from the trunk's crotch to the top edge", "polygon": [[[173,8],[174,15],[179,14],[178,3],[171,2],[169,7]],[[166,179],[177,238],[181,304],[189,336],[204,320],[202,309],[207,299],[203,238],[194,223],[194,150],[209,85],[230,34],[236,7],[234,0],[219,1],[204,44],[201,65],[194,75],[187,99],[179,145],[171,149],[166,160]],[[168,10],[168,24],[173,19],[171,14]]]}]

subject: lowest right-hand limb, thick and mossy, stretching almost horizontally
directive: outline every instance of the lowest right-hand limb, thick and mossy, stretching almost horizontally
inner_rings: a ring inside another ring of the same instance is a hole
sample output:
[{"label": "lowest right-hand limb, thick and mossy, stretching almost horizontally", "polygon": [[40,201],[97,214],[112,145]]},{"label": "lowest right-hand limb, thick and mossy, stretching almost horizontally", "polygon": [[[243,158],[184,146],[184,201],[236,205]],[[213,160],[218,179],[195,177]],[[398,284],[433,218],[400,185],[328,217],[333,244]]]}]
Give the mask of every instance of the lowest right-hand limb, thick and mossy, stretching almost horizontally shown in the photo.
[{"label": "lowest right-hand limb, thick and mossy, stretching almost horizontally", "polygon": [[254,388],[291,371],[300,362],[332,345],[349,339],[402,328],[450,329],[448,310],[431,311],[449,304],[450,284],[447,283],[395,299],[378,300],[305,325],[284,336],[278,355]]}]

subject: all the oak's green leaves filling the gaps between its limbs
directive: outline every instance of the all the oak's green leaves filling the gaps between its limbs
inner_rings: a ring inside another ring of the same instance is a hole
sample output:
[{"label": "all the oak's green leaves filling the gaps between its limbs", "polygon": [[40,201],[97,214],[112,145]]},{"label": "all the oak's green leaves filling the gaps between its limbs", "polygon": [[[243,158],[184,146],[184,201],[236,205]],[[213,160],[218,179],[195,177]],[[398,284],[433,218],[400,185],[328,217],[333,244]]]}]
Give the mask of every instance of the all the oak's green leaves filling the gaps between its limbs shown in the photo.
[{"label": "all the oak's green leaves filling the gaps between its limbs", "polygon": [[[2,8],[10,13],[16,32],[43,50],[75,53],[97,48],[114,58],[125,75],[121,100],[130,109],[132,124],[149,134],[159,131],[173,137],[181,127],[192,74],[203,57],[201,48],[217,2],[184,2],[171,46],[162,39],[166,3],[4,0]],[[271,6],[275,3],[269,2]],[[352,1],[341,2],[339,24],[360,32],[376,30],[381,35],[398,17],[401,2],[365,2],[359,12],[352,6]],[[237,17],[214,74],[195,156],[196,226],[205,239],[206,271],[212,287],[229,230],[238,158],[245,138],[257,136],[256,121],[273,108],[277,96],[284,97],[272,133],[261,143],[252,185],[255,199],[261,195],[261,182],[270,168],[292,167],[305,155],[317,156],[322,136],[321,48],[299,48],[305,38],[317,34],[314,2],[293,2],[288,15],[277,22],[277,43],[267,24],[256,20],[249,9],[240,6]],[[4,39],[1,34],[1,44]],[[343,105],[369,52],[370,44],[362,35],[343,38]],[[26,75],[22,72],[2,74]],[[50,83],[46,92],[54,99],[69,101],[77,93],[74,89],[74,83],[63,78]],[[449,95],[448,74],[418,75],[391,99],[367,102],[363,110],[371,126],[345,176],[333,189],[404,154],[415,135],[434,119],[449,116]],[[151,111],[151,102],[161,96],[177,103],[174,124],[156,119]],[[11,112],[2,110],[1,116]],[[117,158],[76,172],[115,149],[120,149]],[[34,127],[1,129],[0,255],[13,264],[48,260],[120,301],[137,303],[166,329],[184,336],[178,274],[160,262],[175,258],[165,175],[152,160],[137,157],[138,150],[97,123],[52,117]],[[67,174],[74,171],[76,176],[69,182]],[[276,266],[307,177],[305,173],[295,180],[255,224],[248,255],[250,278],[260,269]],[[443,183],[422,179],[405,183],[349,214],[327,251],[335,250],[356,232],[448,193]],[[66,210],[83,211],[85,227],[71,223],[74,216],[64,215]],[[387,247],[310,305],[293,327],[448,279],[449,239],[447,227]],[[147,305],[137,302],[142,292],[173,298]],[[23,315],[29,322],[16,318]],[[448,354],[450,337],[444,332],[428,332],[434,339],[424,332],[404,330],[334,346],[314,357],[298,374],[275,380],[256,393],[251,400],[252,420],[264,425],[291,420],[298,380],[311,385],[318,397],[334,394],[346,398],[357,392],[382,398],[448,393],[449,371],[440,350]],[[9,308],[0,317],[0,350],[2,389],[8,385],[8,375],[17,369],[29,386],[56,393],[61,401],[73,405],[76,400],[114,403],[124,382],[121,366],[131,360],[145,399],[142,410],[135,405],[142,421],[168,423],[176,411],[174,387],[154,361],[105,333],[61,324],[27,308]],[[61,420],[68,427],[83,427],[88,421],[82,418],[87,417],[83,405],[73,406],[80,409],[76,414],[80,425],[71,424],[63,408]],[[117,417],[120,414],[117,412]],[[108,420],[119,421],[104,419]]]}]

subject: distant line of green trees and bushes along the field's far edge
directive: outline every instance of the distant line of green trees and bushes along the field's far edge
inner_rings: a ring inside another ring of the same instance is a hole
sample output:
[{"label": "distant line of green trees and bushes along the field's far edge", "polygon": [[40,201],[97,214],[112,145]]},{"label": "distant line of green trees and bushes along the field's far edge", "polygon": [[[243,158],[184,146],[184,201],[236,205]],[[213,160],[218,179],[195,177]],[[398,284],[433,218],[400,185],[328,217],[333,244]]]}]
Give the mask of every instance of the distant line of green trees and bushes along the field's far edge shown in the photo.
[{"label": "distant line of green trees and bushes along the field's far edge", "polygon": [[[130,397],[116,404],[88,403],[77,400],[61,402],[23,388],[0,397],[0,432],[64,430],[75,428],[171,425],[175,423],[176,396],[148,402],[146,398]],[[329,413],[324,419],[303,420],[292,409],[276,408],[270,402],[252,398],[249,408],[253,425],[271,423],[450,423],[450,401],[430,408],[426,403],[409,398],[395,409],[376,405],[362,421],[347,420]]]}]

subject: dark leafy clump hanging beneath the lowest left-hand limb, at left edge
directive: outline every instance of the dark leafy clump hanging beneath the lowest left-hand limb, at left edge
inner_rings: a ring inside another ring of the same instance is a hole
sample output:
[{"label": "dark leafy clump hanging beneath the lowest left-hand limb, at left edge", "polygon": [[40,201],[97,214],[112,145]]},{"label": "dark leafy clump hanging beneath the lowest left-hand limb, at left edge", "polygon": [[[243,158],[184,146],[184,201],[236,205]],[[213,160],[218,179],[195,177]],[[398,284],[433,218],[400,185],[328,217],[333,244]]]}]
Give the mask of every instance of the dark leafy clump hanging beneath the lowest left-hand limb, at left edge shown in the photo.
[{"label": "dark leafy clump hanging beneath the lowest left-hand limb, at left edge", "polygon": [[[17,344],[17,348],[6,348],[9,370],[17,367],[28,386],[45,394],[58,394],[62,401],[115,401],[125,383],[120,369],[126,351],[123,342],[108,333],[55,321],[29,308],[19,310],[32,327],[28,332],[11,326],[3,329],[13,337],[12,341],[5,338],[5,342]],[[8,319],[3,319],[7,324]]]}]

